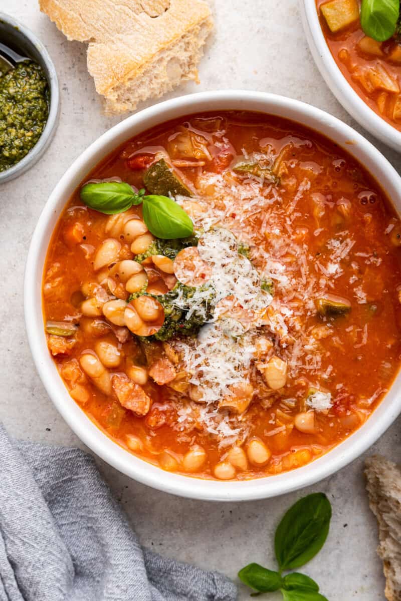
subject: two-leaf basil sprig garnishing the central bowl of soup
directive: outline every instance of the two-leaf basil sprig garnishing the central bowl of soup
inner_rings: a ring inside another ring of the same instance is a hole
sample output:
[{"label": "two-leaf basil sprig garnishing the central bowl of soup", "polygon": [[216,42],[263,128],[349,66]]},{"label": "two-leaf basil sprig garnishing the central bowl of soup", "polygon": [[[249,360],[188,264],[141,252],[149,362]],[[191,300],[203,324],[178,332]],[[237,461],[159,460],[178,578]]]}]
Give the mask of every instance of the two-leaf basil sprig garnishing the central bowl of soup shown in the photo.
[{"label": "two-leaf basil sprig garnishing the central bowl of soup", "polygon": [[124,182],[99,182],[85,184],[79,195],[88,207],[106,215],[123,213],[142,203],[144,222],[153,236],[165,240],[191,236],[194,224],[179,204],[167,196],[145,196],[144,192],[135,192]]}]

